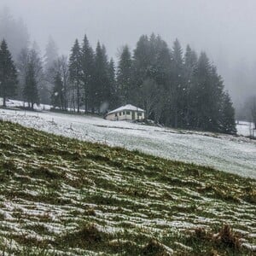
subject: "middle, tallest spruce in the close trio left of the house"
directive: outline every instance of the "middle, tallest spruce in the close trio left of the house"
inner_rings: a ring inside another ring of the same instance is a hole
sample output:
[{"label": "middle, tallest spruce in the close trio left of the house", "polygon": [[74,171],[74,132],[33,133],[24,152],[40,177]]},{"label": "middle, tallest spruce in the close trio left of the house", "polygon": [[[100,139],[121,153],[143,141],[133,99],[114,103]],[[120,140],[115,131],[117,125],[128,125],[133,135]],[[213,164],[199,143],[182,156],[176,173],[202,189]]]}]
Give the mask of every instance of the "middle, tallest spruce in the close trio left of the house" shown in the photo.
[{"label": "middle, tallest spruce in the close trio left of the house", "polygon": [[82,46],[82,71],[83,71],[83,85],[84,85],[84,106],[85,112],[91,108],[90,99],[92,97],[93,81],[94,81],[94,52],[90,47],[89,41],[84,36],[84,42]]}]

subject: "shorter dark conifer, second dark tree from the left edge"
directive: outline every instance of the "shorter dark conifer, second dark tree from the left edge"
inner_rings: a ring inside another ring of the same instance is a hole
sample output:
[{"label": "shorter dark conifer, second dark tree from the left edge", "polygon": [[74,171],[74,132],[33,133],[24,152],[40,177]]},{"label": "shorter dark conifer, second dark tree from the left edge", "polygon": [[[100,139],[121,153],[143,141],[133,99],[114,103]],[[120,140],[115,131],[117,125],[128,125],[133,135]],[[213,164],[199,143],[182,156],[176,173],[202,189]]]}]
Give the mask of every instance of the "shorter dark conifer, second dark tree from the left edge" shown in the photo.
[{"label": "shorter dark conifer, second dark tree from the left edge", "polygon": [[39,97],[35,65],[32,61],[28,64],[25,82],[26,84],[23,91],[24,99],[28,102],[28,107],[33,109],[34,104],[39,103]]}]

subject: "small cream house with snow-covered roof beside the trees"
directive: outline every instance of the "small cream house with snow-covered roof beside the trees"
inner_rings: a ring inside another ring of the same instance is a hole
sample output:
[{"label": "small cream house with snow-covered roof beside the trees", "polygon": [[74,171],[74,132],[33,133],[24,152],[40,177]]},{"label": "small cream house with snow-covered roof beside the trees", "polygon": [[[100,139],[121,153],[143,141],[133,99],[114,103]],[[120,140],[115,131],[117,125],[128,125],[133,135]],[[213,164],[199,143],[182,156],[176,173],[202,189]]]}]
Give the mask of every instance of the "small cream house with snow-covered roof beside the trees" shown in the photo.
[{"label": "small cream house with snow-covered roof beside the trees", "polygon": [[132,105],[125,105],[123,107],[114,109],[109,112],[106,117],[108,120],[121,121],[121,120],[143,120],[145,119],[145,111],[142,108],[137,108]]}]

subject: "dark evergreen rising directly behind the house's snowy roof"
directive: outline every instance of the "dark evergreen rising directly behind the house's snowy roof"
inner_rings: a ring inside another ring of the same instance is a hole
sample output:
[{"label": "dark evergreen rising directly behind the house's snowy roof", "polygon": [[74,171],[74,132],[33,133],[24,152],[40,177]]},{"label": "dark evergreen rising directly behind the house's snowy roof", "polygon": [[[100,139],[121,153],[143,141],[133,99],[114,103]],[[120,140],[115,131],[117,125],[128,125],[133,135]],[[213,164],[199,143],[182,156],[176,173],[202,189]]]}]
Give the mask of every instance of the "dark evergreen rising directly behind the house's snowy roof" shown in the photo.
[{"label": "dark evergreen rising directly behind the house's snowy roof", "polygon": [[117,83],[120,104],[125,105],[132,102],[132,60],[131,52],[127,45],[122,49],[119,56]]}]

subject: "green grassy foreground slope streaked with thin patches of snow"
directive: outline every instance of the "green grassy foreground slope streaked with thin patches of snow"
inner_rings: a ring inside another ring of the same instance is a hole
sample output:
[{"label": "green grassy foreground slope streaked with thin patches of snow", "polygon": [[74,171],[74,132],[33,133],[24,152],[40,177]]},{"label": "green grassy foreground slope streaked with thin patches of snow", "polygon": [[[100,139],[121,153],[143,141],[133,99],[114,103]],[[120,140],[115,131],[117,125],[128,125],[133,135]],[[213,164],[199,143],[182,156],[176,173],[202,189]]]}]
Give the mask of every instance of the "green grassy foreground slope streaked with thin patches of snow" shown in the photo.
[{"label": "green grassy foreground slope streaked with thin patches of snow", "polygon": [[0,122],[0,250],[253,255],[241,241],[256,243],[255,185]]}]

